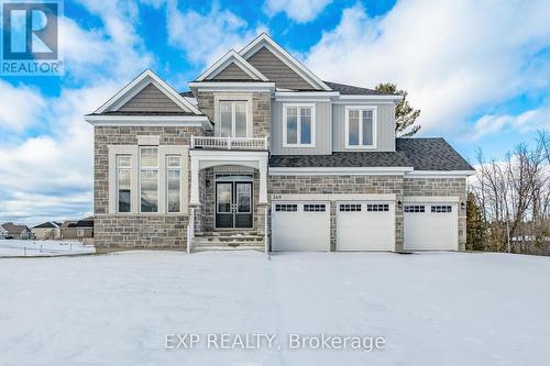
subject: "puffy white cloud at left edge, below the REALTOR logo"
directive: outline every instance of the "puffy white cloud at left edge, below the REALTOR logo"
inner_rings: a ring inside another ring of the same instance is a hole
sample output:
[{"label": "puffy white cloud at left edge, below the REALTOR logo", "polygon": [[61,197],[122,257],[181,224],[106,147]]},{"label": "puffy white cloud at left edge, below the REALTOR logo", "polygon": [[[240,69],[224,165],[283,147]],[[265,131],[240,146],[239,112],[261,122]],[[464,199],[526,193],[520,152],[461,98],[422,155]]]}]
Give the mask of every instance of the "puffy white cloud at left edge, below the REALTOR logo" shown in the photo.
[{"label": "puffy white cloud at left edge, below the REALTOR logo", "polygon": [[0,133],[22,132],[36,124],[44,111],[45,100],[32,88],[12,86],[0,80]]}]

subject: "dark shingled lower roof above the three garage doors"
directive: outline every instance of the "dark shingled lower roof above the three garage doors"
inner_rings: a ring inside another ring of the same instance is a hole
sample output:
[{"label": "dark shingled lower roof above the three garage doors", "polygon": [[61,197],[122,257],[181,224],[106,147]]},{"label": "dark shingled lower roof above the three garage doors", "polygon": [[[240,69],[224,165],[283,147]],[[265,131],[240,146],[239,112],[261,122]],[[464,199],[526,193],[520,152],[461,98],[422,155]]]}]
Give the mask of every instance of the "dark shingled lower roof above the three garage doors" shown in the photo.
[{"label": "dark shingled lower roof above the three garage doors", "polygon": [[270,167],[414,167],[415,170],[473,170],[443,138],[396,138],[395,152],[272,155]]}]

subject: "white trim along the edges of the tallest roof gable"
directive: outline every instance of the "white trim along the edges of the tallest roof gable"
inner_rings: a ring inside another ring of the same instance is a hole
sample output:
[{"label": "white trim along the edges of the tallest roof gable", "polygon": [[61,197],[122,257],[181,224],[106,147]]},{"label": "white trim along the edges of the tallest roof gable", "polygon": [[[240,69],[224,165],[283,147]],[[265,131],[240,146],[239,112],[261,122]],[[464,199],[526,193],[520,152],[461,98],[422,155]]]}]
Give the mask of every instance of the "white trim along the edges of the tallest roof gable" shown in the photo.
[{"label": "white trim along the edges of the tallest roof gable", "polygon": [[239,52],[239,55],[241,55],[244,59],[249,59],[262,47],[266,47],[284,64],[286,64],[289,68],[292,68],[296,74],[298,74],[304,80],[309,82],[315,89],[332,90],[319,77],[317,77],[306,66],[304,66],[299,60],[297,60],[293,55],[290,55],[283,47],[280,47],[275,41],[273,41],[273,38],[270,37],[266,33],[260,34],[254,41],[252,41],[243,49],[241,49]]}]

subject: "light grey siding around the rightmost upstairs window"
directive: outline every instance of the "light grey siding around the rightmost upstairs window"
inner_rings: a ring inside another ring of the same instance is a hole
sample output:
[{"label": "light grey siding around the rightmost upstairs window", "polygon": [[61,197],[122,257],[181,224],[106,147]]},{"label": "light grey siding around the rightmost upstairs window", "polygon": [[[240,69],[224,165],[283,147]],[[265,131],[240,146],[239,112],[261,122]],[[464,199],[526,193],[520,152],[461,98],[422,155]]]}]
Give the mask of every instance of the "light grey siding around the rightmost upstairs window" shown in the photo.
[{"label": "light grey siding around the rightmost upstairs window", "polygon": [[[352,104],[350,104],[352,106]],[[376,148],[345,148],[345,106],[332,106],[332,133],[334,152],[395,152],[395,106],[394,104],[370,104],[377,107],[376,124]]]}]

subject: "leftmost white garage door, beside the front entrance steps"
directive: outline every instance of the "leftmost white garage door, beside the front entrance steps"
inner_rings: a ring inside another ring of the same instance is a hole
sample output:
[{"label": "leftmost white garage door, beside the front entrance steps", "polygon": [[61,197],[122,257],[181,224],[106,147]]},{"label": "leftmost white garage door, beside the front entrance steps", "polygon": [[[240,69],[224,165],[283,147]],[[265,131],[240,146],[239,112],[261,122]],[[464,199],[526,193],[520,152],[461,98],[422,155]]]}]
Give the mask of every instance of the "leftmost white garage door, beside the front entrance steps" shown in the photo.
[{"label": "leftmost white garage door, beside the front entrance steps", "polygon": [[272,251],[329,251],[329,202],[276,202],[272,207]]}]

